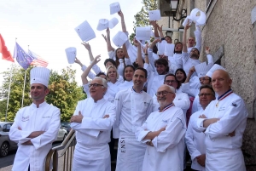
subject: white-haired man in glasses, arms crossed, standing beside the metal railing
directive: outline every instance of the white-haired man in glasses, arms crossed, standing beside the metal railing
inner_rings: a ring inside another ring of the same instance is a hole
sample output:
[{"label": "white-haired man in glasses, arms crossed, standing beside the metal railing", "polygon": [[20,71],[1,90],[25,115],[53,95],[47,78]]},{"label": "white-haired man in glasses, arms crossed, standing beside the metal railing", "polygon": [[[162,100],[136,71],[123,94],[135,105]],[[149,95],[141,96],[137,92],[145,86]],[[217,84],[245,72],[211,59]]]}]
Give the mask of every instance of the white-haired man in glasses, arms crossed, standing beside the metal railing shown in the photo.
[{"label": "white-haired man in glasses, arms crossed, standing beside the metal railing", "polygon": [[77,144],[73,155],[73,171],[110,171],[110,131],[115,121],[115,107],[103,98],[107,81],[95,77],[89,84],[90,98],[79,101],[71,128],[76,131]]}]

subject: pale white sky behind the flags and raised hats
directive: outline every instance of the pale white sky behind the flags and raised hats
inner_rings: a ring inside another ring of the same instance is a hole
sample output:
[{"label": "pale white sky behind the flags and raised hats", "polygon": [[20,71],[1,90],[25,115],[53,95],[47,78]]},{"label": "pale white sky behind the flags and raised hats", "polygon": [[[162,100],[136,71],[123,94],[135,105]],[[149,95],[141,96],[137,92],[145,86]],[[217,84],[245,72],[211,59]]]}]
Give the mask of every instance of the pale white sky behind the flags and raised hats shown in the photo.
[{"label": "pale white sky behind the flags and raised hats", "polygon": [[[0,33],[11,54],[15,49],[15,40],[20,47],[39,54],[49,62],[48,68],[61,71],[71,66],[77,71],[76,81],[82,85],[81,68],[78,64],[67,63],[65,49],[77,48],[78,59],[86,66],[90,65],[87,50],[81,44],[74,28],[87,20],[96,33],[96,38],[89,41],[94,56],[101,54],[99,66],[104,71],[103,62],[108,58],[107,44],[102,34],[106,31],[97,31],[98,20],[111,20],[116,17],[119,24],[110,30],[111,38],[121,31],[120,17],[110,14],[109,4],[116,0],[3,0],[0,1]],[[127,31],[132,33],[134,15],[139,12],[143,3],[141,0],[119,0],[121,10],[125,16]],[[17,38],[17,39],[16,39]],[[113,47],[114,44],[112,43]],[[114,47],[116,48],[116,47]],[[0,72],[7,71],[12,62],[1,60]],[[15,61],[15,64],[18,63]],[[0,85],[3,74],[0,74]]]}]

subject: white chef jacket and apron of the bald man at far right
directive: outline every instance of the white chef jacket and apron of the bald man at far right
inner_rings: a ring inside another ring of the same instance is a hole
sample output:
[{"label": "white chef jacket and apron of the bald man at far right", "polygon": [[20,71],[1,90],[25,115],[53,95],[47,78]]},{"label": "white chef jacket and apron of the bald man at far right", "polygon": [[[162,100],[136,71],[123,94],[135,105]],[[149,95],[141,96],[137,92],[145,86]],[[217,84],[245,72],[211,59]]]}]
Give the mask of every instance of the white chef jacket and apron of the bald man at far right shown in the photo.
[{"label": "white chef jacket and apron of the bald man at far right", "polygon": [[[229,94],[219,96],[219,99]],[[245,165],[241,153],[242,134],[247,123],[247,109],[241,99],[235,93],[231,93],[223,100],[212,100],[202,113],[207,118],[219,118],[217,123],[212,123],[207,128],[203,128],[204,118],[198,118],[193,128],[196,131],[205,131],[205,145],[207,148],[207,157],[214,158],[214,162],[206,163],[207,170],[245,170]],[[229,134],[236,131],[236,135],[230,137]],[[237,154],[237,152],[239,154]],[[232,155],[236,155],[242,160],[232,160]],[[231,158],[230,158],[231,157]],[[227,159],[227,161],[225,161]],[[223,162],[223,160],[225,162]],[[218,165],[215,166],[215,165]]]}]

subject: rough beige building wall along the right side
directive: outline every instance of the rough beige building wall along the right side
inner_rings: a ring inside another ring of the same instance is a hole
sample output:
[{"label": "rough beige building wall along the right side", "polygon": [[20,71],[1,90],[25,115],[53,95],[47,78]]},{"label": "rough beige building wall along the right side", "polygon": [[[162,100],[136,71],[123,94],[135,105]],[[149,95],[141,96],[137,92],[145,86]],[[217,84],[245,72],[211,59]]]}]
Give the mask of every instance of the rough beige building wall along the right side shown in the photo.
[{"label": "rough beige building wall along the right side", "polygon": [[[206,0],[190,0],[184,9],[197,8],[207,10]],[[256,28],[251,23],[251,11],[256,1],[251,0],[212,0],[212,11],[207,12],[207,24],[202,26],[201,60],[205,60],[206,46],[211,48],[212,54],[220,46],[224,46],[222,66],[230,73],[233,80],[232,89],[239,94],[247,105],[249,118],[243,138],[242,150],[247,170],[256,169],[256,123],[255,116],[255,54],[256,54]],[[191,8],[192,7],[192,8]],[[191,29],[192,30],[192,29]],[[254,37],[253,37],[253,30]],[[192,34],[191,31],[189,34]]]}]

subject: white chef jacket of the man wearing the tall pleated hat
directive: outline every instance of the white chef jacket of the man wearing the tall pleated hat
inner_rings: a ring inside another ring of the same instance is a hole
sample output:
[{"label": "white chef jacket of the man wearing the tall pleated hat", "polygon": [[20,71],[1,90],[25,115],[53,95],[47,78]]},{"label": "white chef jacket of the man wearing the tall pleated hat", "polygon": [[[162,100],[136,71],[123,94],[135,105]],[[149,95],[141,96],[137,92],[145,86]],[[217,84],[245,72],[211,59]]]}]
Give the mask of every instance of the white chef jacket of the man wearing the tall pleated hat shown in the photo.
[{"label": "white chef jacket of the man wearing the tall pleated hat", "polygon": [[[9,138],[18,143],[13,171],[44,170],[45,157],[52,148],[61,124],[60,110],[45,101],[39,105],[21,108],[15,117],[15,123],[9,131]],[[18,128],[21,128],[19,130]],[[33,131],[45,131],[44,134],[31,139],[33,145],[21,145]]]}]

